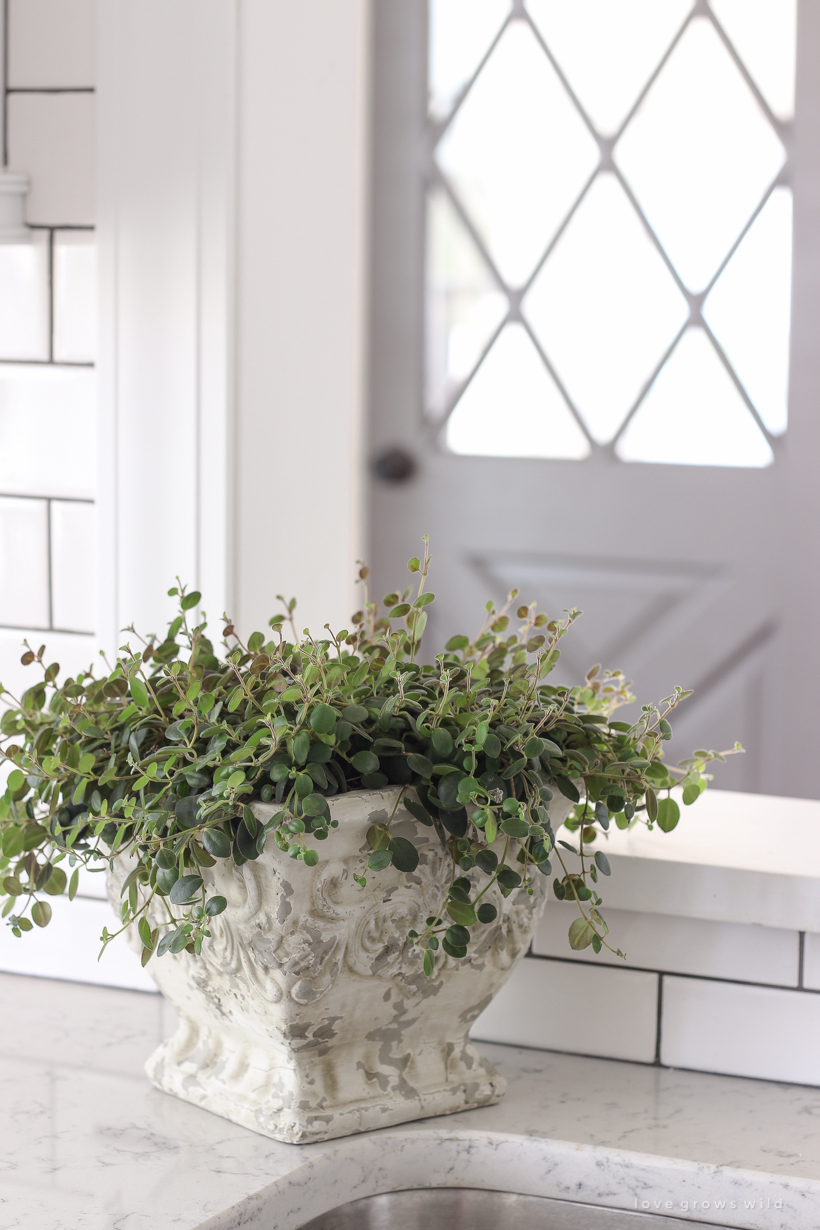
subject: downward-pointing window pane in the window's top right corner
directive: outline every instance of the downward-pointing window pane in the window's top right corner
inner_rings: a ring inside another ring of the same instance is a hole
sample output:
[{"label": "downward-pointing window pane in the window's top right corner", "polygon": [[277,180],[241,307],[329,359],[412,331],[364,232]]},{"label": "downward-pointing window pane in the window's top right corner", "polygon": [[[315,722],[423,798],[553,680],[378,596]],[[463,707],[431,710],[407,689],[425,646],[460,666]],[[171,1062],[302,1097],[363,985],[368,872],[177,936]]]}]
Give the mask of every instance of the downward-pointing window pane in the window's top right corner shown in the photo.
[{"label": "downward-pointing window pane in the window's top right corner", "polygon": [[712,0],[712,11],[775,114],[792,119],[797,0]]}]

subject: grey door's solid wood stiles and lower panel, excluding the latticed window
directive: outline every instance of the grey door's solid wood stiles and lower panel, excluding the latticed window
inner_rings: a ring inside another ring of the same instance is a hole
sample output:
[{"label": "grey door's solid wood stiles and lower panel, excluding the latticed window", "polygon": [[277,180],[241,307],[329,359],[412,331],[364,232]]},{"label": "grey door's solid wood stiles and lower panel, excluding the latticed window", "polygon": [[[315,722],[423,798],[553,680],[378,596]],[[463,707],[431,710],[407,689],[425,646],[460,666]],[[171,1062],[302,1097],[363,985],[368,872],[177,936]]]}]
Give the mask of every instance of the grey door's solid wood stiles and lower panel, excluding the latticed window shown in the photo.
[{"label": "grey door's solid wood stiles and lower panel, excluding the latticed window", "polygon": [[[374,482],[379,592],[401,579],[403,561],[428,531],[439,597],[428,626],[432,651],[478,626],[484,601],[503,600],[515,583],[522,599],[538,598],[552,615],[589,599],[586,621],[562,645],[568,665],[556,678],[577,681],[606,651],[605,664],[623,668],[642,700],[660,699],[676,684],[693,688],[674,755],[741,739],[749,754],[716,768],[719,785],[820,795],[820,593],[810,565],[820,517],[818,6],[799,4],[790,423],[776,442],[773,465],[757,471],[628,465],[605,454],[540,461],[444,451],[423,417],[424,25],[423,6],[377,7],[373,446],[401,446],[418,464],[411,482]],[[586,572],[584,597],[572,577],[556,585],[562,567]],[[654,604],[637,574],[656,582]],[[677,589],[669,584],[675,574]],[[593,619],[604,626],[610,619],[616,631],[618,609],[622,635],[584,646]]]}]

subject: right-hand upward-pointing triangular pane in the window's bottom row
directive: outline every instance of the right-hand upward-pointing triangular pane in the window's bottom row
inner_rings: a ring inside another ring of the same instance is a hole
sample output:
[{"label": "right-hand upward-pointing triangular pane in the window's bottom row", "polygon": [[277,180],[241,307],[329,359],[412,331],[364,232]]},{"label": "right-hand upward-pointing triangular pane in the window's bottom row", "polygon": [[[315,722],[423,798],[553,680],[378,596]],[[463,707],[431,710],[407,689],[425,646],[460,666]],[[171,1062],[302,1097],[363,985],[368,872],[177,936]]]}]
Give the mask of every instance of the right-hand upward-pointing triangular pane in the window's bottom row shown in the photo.
[{"label": "right-hand upward-pointing triangular pane in the window's bottom row", "polygon": [[772,450],[702,328],[688,328],[616,445],[623,461],[765,466]]}]

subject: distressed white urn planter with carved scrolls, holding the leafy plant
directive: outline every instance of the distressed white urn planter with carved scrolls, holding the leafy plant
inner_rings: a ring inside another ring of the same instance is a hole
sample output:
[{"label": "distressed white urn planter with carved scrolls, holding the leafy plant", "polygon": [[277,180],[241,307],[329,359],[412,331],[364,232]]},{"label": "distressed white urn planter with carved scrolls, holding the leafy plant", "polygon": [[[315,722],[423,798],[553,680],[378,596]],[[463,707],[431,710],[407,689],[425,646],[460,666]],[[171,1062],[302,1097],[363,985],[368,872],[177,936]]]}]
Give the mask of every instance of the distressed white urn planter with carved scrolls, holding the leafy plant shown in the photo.
[{"label": "distressed white urn planter with carved scrolls, holding the leafy plant", "polygon": [[[439,953],[425,978],[404,942],[436,914],[450,883],[435,830],[400,807],[395,835],[419,846],[412,875],[365,870],[368,828],[385,820],[398,787],[329,800],[339,822],[316,867],[270,839],[256,862],[218,860],[204,872],[227,898],[200,957],[154,958],[148,969],[179,1014],[178,1032],[148,1060],[151,1081],[275,1140],[328,1140],[497,1102],[505,1082],[470,1039],[470,1027],[526,952],[546,902],[484,900],[498,919],[478,929],[468,956]],[[572,804],[556,796],[553,827]],[[273,807],[254,804],[261,819]],[[503,843],[497,843],[500,855]],[[124,870],[119,876],[124,875]],[[111,877],[118,897],[117,872]],[[472,872],[486,883],[486,877]],[[157,913],[155,922],[161,921]]]}]

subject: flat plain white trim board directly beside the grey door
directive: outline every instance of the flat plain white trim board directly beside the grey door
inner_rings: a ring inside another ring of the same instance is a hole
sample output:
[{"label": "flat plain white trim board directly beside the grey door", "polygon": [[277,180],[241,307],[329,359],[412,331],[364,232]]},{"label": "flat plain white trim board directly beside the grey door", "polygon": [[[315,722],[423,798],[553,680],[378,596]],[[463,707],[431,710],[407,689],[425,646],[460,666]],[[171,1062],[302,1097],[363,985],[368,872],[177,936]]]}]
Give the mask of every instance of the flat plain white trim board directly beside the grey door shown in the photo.
[{"label": "flat plain white trim board directly beside the grey door", "polygon": [[236,614],[349,627],[361,555],[369,0],[246,0],[239,36]]}]

